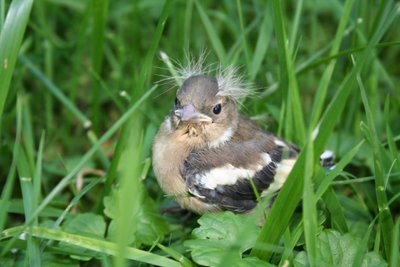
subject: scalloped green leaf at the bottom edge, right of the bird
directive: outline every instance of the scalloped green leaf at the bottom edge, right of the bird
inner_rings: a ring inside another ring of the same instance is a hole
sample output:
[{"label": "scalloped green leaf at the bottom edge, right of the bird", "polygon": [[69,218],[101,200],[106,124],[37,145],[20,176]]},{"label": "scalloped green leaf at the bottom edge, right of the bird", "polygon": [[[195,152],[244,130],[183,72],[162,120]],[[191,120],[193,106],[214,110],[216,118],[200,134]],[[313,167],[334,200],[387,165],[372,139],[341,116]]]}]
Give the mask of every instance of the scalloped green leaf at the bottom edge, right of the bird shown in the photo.
[{"label": "scalloped green leaf at the bottom edge, right of the bird", "polygon": [[[338,231],[325,230],[317,239],[316,262],[318,266],[352,266],[362,240],[350,233],[341,235]],[[293,265],[309,266],[307,252],[296,255]],[[387,263],[375,252],[363,256],[362,266],[387,266]]]}]

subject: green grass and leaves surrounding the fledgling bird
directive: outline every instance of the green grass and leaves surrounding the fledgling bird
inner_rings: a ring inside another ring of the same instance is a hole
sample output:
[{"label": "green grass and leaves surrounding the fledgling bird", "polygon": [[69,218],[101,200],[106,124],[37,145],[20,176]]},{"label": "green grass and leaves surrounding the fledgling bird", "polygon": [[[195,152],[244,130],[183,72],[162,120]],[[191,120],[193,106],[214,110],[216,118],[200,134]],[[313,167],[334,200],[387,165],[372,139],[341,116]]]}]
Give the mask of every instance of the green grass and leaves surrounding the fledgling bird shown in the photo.
[{"label": "green grass and leaves surrounding the fledgling bird", "polygon": [[[0,0],[0,265],[398,266],[399,10]],[[163,76],[204,50],[256,88],[242,112],[302,148],[261,227],[262,209],[161,212]]]}]

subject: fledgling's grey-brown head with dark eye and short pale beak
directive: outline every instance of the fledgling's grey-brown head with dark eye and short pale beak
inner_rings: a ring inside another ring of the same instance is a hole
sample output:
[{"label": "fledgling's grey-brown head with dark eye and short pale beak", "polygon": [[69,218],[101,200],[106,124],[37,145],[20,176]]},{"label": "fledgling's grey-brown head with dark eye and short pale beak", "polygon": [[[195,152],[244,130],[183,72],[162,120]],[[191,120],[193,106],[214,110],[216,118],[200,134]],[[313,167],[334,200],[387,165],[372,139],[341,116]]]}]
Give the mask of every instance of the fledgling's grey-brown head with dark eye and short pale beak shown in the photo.
[{"label": "fledgling's grey-brown head with dark eye and short pale beak", "polygon": [[228,141],[236,130],[238,111],[236,100],[223,89],[217,78],[208,75],[184,80],[170,114],[175,130],[210,147]]}]

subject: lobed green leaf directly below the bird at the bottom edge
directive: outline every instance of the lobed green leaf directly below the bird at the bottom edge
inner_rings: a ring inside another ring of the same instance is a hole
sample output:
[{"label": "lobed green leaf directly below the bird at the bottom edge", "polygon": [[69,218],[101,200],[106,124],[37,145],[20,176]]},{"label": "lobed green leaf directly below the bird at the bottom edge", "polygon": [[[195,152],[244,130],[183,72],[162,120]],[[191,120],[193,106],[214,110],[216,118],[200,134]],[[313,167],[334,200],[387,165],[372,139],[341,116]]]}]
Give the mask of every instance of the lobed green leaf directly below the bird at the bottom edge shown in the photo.
[{"label": "lobed green leaf directly below the bird at the bottom edge", "polygon": [[244,251],[253,247],[260,230],[255,223],[251,225],[250,220],[232,212],[205,214],[198,221],[200,227],[192,232],[194,239],[184,245],[190,248],[193,260],[200,265],[227,264],[227,260],[234,266],[254,263],[252,259],[241,258]]}]

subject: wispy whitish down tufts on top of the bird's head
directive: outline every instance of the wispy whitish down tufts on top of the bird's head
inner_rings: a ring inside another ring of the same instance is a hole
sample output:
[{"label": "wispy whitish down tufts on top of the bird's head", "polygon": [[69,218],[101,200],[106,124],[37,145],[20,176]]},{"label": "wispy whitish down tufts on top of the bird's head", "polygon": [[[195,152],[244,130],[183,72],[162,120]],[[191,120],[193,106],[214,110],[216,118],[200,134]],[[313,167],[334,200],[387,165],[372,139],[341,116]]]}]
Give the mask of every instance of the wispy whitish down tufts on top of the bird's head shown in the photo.
[{"label": "wispy whitish down tufts on top of the bird's head", "polygon": [[217,79],[219,96],[229,97],[236,102],[240,102],[252,93],[252,87],[244,82],[244,78],[239,74],[238,68],[232,66],[222,67],[219,64],[206,65],[205,59],[207,55],[205,53],[202,53],[198,59],[193,59],[192,56],[188,55],[185,66],[178,62],[172,64],[168,55],[164,52],[160,53],[160,57],[167,64],[172,74],[172,77],[169,77],[168,80],[175,80],[179,86],[192,76],[210,75]]}]

